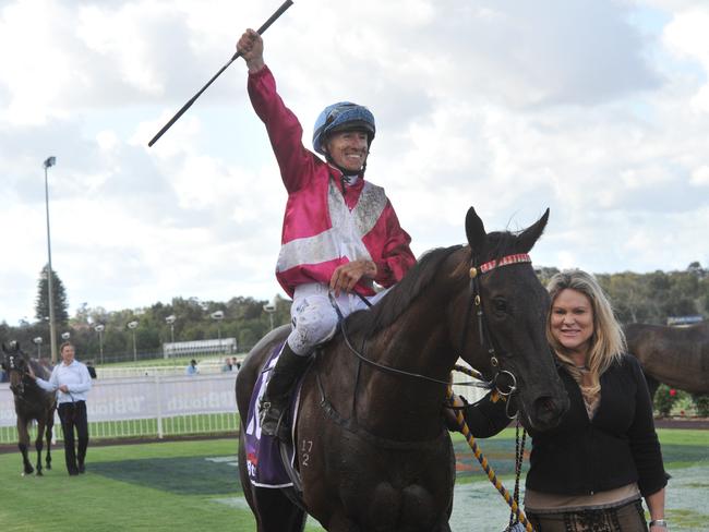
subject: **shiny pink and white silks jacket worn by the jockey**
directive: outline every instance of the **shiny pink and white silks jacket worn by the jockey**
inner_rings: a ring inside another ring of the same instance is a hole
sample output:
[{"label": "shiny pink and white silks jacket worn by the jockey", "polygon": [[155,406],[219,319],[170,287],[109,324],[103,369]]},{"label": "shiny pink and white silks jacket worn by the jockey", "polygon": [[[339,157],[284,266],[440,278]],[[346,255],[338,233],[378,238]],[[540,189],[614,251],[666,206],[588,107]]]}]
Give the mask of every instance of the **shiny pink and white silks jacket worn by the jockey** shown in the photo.
[{"label": "shiny pink and white silks jacket worn by the jockey", "polygon": [[[249,74],[248,89],[288,192],[276,264],[284,290],[292,298],[299,286],[326,286],[338,266],[362,258],[376,264],[373,281],[382,287],[401,280],[416,257],[384,189],[361,177],[344,184],[338,169],[303,146],[303,129],[276,92],[267,66]],[[354,290],[365,297],[375,293],[372,279],[362,279]],[[302,348],[289,343],[301,354]]]}]

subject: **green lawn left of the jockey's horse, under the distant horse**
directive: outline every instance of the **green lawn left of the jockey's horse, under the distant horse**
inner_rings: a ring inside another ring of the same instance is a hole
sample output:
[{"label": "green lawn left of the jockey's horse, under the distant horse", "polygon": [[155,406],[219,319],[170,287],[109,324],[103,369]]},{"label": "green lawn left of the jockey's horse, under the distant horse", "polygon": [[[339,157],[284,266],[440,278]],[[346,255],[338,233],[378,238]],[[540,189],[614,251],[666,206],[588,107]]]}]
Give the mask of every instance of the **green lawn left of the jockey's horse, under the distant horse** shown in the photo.
[{"label": "green lawn left of the jockey's horse, under the distant horse", "polygon": [[[237,439],[89,447],[87,472],[70,477],[63,449],[44,476],[21,476],[19,452],[0,455],[3,532],[252,531],[233,457]],[[34,460],[34,456],[33,456]],[[243,500],[243,499],[242,499]],[[310,527],[309,531],[317,530]]]}]

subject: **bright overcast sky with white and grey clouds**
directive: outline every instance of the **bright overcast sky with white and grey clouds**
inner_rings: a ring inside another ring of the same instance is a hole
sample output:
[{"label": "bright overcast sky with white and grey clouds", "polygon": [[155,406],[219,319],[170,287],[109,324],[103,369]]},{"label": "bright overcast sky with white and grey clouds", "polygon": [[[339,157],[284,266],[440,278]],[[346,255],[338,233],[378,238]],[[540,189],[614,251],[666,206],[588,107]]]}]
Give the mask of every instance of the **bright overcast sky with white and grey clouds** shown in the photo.
[{"label": "bright overcast sky with white and grey clouds", "polygon": [[[47,262],[70,314],[283,294],[286,194],[236,61],[280,0],[0,0],[0,322]],[[265,59],[310,146],[333,101],[377,120],[368,178],[413,252],[551,208],[537,266],[709,266],[706,0],[296,0]],[[284,294],[285,295],[285,294]]]}]

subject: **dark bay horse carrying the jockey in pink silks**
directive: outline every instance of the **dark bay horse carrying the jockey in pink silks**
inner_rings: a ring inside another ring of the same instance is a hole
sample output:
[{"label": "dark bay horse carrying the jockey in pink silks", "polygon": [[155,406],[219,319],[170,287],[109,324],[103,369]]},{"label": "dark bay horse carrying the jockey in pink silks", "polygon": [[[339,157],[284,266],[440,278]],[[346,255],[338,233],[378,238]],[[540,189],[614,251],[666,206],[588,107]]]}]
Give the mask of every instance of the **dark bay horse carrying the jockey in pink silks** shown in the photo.
[{"label": "dark bay horse carrying the jockey in pink silks", "polygon": [[[442,407],[458,356],[498,388],[514,386],[526,426],[558,423],[568,398],[544,334],[549,295],[527,255],[548,217],[520,233],[486,234],[471,208],[468,245],[429,252],[315,356],[293,444],[303,507],[326,530],[450,530],[455,456]],[[288,330],[264,337],[237,377],[240,476],[260,532],[302,531],[305,521],[284,491],[251,484],[244,451],[254,382]]]}]

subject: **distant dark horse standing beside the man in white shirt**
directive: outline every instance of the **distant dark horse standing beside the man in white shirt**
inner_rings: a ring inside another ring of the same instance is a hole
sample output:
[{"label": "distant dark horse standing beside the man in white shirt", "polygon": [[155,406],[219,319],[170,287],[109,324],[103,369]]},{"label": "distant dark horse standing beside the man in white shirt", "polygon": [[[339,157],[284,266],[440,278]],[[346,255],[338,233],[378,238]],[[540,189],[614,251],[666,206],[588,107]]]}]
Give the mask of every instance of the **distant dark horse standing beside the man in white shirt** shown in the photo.
[{"label": "distant dark horse standing beside the man in white shirt", "polygon": [[47,392],[37,386],[34,379],[27,376],[28,367],[32,366],[35,375],[44,379],[50,376],[49,370],[38,361],[29,359],[21,349],[17,342],[11,342],[10,348],[2,344],[2,366],[10,374],[10,389],[14,396],[15,414],[17,414],[17,435],[20,452],[22,452],[22,462],[24,474],[32,474],[35,470],[29,462],[29,431],[28,425],[32,420],[37,421],[37,439],[35,448],[37,449],[37,474],[41,475],[41,451],[44,449],[43,438],[47,439],[47,469],[51,469],[51,432],[55,426],[55,410],[57,410],[57,399],[53,392]]}]

